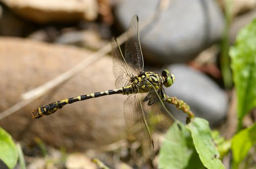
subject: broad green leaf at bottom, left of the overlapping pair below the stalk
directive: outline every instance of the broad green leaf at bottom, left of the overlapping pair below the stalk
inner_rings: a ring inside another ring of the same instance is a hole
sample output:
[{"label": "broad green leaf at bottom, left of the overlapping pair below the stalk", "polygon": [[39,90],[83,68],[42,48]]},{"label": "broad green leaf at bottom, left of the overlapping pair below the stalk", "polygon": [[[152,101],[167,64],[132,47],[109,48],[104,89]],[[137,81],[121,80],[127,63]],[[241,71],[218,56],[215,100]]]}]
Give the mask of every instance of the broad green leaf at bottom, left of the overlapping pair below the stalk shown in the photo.
[{"label": "broad green leaf at bottom, left of the overlapping pair below the stalk", "polygon": [[175,123],[166,133],[160,149],[159,168],[204,168],[193,145],[190,132]]}]

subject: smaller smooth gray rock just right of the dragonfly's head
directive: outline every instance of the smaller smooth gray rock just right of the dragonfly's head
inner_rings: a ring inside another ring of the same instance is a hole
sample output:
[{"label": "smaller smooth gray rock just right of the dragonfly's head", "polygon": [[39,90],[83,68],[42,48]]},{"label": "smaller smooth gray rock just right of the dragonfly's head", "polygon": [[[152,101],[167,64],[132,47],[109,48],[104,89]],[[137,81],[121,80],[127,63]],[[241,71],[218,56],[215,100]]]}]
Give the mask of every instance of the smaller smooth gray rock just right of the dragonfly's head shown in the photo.
[{"label": "smaller smooth gray rock just right of the dragonfly's head", "polygon": [[[165,89],[169,96],[185,101],[196,117],[208,120],[210,125],[217,125],[225,118],[228,98],[214,81],[186,65],[169,66],[169,71],[176,77],[173,86]],[[173,105],[166,106],[178,119],[185,121],[186,115],[181,110]]]}]

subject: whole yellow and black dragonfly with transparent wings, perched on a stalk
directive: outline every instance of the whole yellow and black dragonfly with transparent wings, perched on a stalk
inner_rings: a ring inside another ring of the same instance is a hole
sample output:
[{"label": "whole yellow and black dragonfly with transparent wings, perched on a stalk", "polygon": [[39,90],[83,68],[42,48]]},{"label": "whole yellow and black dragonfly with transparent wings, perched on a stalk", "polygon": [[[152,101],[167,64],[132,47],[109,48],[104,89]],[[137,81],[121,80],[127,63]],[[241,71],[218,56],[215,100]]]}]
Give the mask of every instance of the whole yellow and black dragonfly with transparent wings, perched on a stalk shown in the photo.
[{"label": "whole yellow and black dragonfly with transparent wings, perched on a stalk", "polygon": [[144,71],[138,24],[139,19],[135,15],[127,31],[124,53],[117,39],[113,38],[111,42],[116,89],[63,99],[38,107],[32,111],[33,118],[51,115],[64,105],[77,101],[113,94],[127,95],[123,106],[126,126],[139,140],[144,156],[154,158],[154,142],[150,125],[154,123],[152,118],[157,123],[172,124],[174,122],[175,118],[163,104],[167,97],[163,86],[166,88],[172,86],[175,76],[166,69],[161,74]]}]

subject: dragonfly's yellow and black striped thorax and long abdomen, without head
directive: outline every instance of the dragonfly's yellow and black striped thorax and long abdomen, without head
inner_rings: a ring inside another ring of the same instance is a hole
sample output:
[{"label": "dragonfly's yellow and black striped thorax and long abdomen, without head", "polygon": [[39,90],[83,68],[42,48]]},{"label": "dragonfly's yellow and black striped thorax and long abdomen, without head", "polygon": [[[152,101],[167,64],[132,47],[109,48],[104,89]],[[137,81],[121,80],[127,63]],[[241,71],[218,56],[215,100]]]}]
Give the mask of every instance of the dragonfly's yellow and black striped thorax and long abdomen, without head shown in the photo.
[{"label": "dragonfly's yellow and black striped thorax and long abdomen, without head", "polygon": [[[53,114],[58,109],[62,108],[66,104],[72,104],[77,101],[87,100],[95,97],[101,97],[105,95],[113,95],[113,94],[123,94],[123,95],[129,95],[129,94],[135,94],[135,93],[147,93],[152,90],[153,86],[156,90],[161,91],[162,86],[164,85],[164,82],[166,77],[161,76],[154,72],[140,72],[139,75],[133,76],[131,78],[130,85],[127,85],[125,87],[122,87],[120,89],[115,90],[108,90],[104,92],[96,92],[88,95],[81,95],[77,97],[72,97],[68,99],[63,99],[60,101],[56,101],[41,107],[38,107],[37,109],[32,111],[33,118],[40,118],[44,115],[50,115]],[[161,93],[160,93],[161,94]],[[145,98],[144,100],[148,100],[149,98]],[[149,102],[154,103],[153,101]]]}]

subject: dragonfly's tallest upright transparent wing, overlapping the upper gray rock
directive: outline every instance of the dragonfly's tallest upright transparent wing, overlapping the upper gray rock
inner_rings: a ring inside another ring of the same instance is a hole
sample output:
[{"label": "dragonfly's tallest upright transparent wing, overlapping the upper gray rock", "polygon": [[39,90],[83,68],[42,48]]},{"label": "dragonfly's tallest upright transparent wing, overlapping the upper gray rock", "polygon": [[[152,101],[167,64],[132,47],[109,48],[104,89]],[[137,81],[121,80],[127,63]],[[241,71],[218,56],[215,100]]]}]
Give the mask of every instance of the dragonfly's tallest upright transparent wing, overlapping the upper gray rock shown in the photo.
[{"label": "dragonfly's tallest upright transparent wing, overlapping the upper gray rock", "polygon": [[127,31],[124,58],[126,63],[136,70],[137,74],[143,71],[144,63],[140,46],[139,19],[137,15],[132,18]]}]

